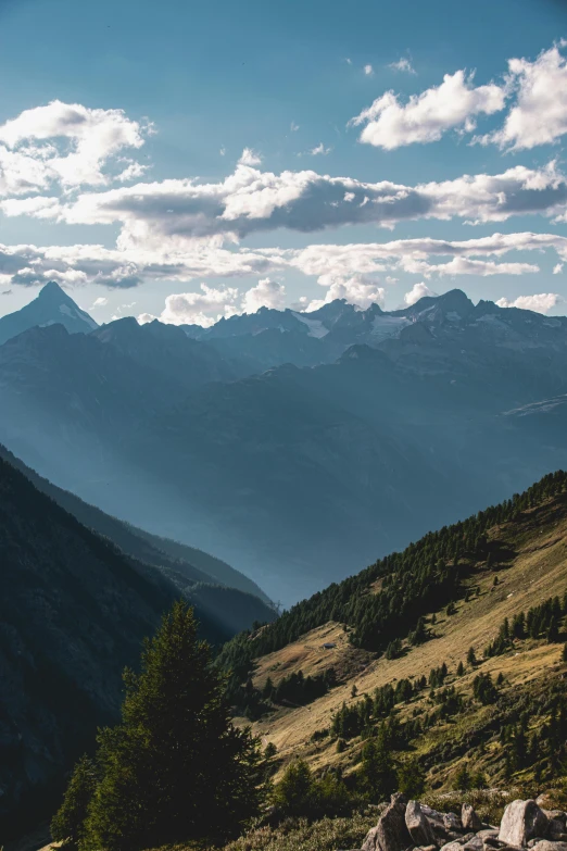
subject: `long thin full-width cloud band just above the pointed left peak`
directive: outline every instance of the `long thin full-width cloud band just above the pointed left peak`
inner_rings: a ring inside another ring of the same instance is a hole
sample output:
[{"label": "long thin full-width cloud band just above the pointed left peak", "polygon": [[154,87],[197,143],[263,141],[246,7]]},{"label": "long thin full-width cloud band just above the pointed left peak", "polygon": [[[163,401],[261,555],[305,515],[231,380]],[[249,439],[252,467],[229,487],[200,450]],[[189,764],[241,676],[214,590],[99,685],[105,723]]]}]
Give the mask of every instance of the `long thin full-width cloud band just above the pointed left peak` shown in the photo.
[{"label": "long thin full-width cloud band just above the pointed left peak", "polygon": [[[214,277],[265,277],[295,270],[320,278],[327,287],[337,281],[358,280],[377,286],[380,274],[387,285],[395,283],[400,271],[432,276],[487,276],[530,274],[537,265],[495,262],[514,251],[554,251],[567,261],[567,237],[558,234],[493,234],[468,240],[431,238],[399,239],[352,245],[313,243],[302,249],[224,249],[192,245],[178,251],[163,247],[106,249],[97,245],[2,246],[0,280],[4,285],[45,284],[52,277],[67,284],[99,284],[113,289],[133,288],[142,283],[179,281]],[[449,258],[449,262],[433,262]],[[336,290],[333,290],[336,291]],[[240,298],[240,296],[239,296]],[[228,303],[228,302],[226,302]],[[240,301],[232,301],[240,310]]]}]

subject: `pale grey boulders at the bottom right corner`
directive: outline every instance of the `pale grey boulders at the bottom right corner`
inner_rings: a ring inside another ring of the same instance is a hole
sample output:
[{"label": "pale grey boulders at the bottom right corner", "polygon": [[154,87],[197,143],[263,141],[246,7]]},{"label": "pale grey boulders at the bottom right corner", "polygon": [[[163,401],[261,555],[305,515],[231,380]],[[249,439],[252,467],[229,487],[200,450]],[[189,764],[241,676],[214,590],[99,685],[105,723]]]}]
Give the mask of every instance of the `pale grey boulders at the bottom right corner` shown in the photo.
[{"label": "pale grey boulders at the bottom right corner", "polygon": [[536,801],[512,801],[500,827],[484,824],[464,803],[461,814],[440,813],[392,796],[362,851],[567,851],[567,813]]}]

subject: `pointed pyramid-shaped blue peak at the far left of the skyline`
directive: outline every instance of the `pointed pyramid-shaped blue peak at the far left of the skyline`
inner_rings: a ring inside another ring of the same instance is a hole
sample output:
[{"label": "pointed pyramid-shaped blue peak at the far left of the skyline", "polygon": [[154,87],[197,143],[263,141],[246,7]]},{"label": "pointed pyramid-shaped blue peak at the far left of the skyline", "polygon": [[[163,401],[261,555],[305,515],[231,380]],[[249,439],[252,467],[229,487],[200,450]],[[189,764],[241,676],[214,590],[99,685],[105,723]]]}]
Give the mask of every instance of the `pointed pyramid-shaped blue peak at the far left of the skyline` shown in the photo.
[{"label": "pointed pyramid-shaped blue peak at the far left of the skyline", "polygon": [[28,328],[46,325],[63,325],[70,334],[90,334],[98,327],[94,320],[52,280],[25,308],[0,317],[0,346]]}]

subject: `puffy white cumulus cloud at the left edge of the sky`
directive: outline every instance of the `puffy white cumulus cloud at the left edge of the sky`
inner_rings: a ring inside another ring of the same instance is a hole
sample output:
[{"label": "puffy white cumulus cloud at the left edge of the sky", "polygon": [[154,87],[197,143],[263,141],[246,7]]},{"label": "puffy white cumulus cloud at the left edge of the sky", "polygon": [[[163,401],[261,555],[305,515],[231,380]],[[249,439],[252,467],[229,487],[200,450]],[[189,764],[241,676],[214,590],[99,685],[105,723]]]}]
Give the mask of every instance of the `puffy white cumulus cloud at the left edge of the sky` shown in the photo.
[{"label": "puffy white cumulus cloud at the left edge of the sky", "polygon": [[[142,127],[123,110],[88,109],[54,100],[25,110],[0,125],[0,195],[27,195],[53,184],[70,189],[104,185],[112,158],[140,148],[151,126]],[[140,176],[130,162],[119,179]]]}]

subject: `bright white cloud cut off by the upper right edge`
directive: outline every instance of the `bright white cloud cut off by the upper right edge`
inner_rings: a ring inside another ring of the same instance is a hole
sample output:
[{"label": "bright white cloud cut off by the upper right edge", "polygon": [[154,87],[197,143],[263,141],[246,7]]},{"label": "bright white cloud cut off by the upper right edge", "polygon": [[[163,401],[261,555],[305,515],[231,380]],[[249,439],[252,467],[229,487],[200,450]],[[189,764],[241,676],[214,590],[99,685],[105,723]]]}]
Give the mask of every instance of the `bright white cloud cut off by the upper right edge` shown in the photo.
[{"label": "bright white cloud cut off by the upper right edge", "polygon": [[516,103],[501,129],[476,141],[513,151],[557,141],[567,133],[567,61],[559,48],[543,51],[534,62],[511,59],[508,71]]}]

